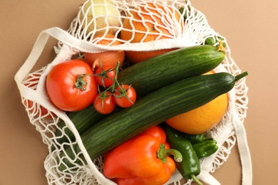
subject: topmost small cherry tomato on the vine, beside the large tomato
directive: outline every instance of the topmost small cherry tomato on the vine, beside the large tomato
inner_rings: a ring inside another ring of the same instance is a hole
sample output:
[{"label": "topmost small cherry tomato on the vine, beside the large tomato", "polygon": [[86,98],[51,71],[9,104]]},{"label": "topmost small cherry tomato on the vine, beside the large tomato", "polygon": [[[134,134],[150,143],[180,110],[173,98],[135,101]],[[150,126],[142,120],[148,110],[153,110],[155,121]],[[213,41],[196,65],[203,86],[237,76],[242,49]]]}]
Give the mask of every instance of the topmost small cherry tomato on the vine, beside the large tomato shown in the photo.
[{"label": "topmost small cherry tomato on the vine, beside the large tomato", "polygon": [[114,83],[115,78],[115,68],[111,65],[101,65],[101,67],[96,70],[96,82],[108,88]]}]

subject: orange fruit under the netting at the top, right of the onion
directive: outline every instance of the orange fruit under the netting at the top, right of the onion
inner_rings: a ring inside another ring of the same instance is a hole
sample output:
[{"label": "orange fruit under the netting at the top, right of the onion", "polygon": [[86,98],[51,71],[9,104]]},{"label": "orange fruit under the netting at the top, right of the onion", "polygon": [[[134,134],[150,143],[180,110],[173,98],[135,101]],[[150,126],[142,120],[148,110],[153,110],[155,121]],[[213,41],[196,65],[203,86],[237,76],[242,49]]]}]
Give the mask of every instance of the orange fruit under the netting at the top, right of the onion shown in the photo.
[{"label": "orange fruit under the netting at the top, right of the onion", "polygon": [[[180,28],[183,26],[182,17],[177,9],[173,9],[171,6],[162,6],[159,3],[148,3],[145,6],[136,7],[130,10],[130,14],[132,16],[128,16],[123,21],[123,30],[120,32],[120,37],[130,43],[175,38],[173,26],[175,23],[180,23]],[[125,54],[133,63],[138,63],[174,49],[125,51]]]}]

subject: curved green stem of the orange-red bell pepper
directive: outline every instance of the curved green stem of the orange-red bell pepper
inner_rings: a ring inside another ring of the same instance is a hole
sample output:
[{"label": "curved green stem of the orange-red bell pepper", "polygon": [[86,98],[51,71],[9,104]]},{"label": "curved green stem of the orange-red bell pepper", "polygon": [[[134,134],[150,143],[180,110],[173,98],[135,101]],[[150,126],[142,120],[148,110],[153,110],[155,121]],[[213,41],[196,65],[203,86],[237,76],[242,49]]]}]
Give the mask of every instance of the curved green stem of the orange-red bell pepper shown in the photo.
[{"label": "curved green stem of the orange-red bell pepper", "polygon": [[182,154],[176,149],[166,149],[165,144],[160,144],[160,149],[158,149],[158,158],[166,163],[167,157],[173,155],[175,162],[182,162]]}]

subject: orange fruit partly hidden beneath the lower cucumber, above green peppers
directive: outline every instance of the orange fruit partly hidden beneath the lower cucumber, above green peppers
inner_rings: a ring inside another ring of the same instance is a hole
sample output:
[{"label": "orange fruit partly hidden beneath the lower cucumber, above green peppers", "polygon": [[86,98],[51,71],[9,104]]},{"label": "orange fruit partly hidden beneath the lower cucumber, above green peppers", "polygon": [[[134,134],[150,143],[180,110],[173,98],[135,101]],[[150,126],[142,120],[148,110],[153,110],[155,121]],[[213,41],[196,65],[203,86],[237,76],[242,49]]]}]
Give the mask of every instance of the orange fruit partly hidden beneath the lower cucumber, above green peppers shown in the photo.
[{"label": "orange fruit partly hidden beneath the lower cucumber, above green peppers", "polygon": [[[211,73],[212,72],[210,72],[210,74]],[[173,127],[180,132],[185,132],[187,134],[201,134],[209,131],[220,122],[225,115],[228,102],[229,97],[228,94],[225,93],[201,107],[172,117],[165,122],[170,125],[170,127]]]}]

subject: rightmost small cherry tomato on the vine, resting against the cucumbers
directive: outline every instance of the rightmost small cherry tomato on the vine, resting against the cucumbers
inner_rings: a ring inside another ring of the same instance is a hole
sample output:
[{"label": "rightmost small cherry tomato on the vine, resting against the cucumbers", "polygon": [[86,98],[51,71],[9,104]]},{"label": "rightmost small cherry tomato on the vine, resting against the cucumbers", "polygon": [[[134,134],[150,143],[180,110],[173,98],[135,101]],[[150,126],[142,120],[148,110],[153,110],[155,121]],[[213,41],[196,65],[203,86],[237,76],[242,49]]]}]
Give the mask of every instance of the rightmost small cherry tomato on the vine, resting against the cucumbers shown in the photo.
[{"label": "rightmost small cherry tomato on the vine, resting against the cucumbers", "polygon": [[120,85],[115,88],[114,92],[115,103],[123,108],[132,106],[136,101],[136,92],[130,85]]}]

